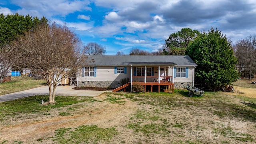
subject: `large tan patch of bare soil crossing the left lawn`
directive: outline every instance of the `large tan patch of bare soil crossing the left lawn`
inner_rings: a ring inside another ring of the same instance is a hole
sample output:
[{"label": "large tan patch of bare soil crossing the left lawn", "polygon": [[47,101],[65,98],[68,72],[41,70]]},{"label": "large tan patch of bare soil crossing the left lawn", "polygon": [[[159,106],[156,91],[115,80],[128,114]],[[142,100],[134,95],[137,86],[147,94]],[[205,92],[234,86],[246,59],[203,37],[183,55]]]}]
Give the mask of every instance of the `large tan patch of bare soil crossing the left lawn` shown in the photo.
[{"label": "large tan patch of bare soil crossing the left lawn", "polygon": [[[55,130],[58,128],[76,128],[82,125],[97,125],[101,128],[116,127],[123,124],[127,116],[134,114],[137,104],[130,100],[120,104],[112,104],[104,101],[106,94],[95,97],[99,102],[79,103],[78,108],[70,116],[60,116],[63,110],[51,110],[48,116],[19,116],[22,118],[10,118],[10,125],[0,124],[0,142],[7,140],[5,144],[13,143],[15,140],[23,143],[53,143]],[[72,108],[73,105],[70,106]],[[77,107],[77,106],[76,106]],[[33,118],[35,117],[35,118]]]}]

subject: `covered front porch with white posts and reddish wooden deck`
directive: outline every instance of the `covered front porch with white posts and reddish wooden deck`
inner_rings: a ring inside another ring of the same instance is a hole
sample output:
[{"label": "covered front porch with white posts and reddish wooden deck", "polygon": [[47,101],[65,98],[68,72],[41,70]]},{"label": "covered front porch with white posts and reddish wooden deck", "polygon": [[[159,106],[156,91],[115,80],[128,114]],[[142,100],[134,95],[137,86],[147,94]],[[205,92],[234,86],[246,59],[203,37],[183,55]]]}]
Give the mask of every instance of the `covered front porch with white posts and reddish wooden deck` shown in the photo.
[{"label": "covered front porch with white posts and reddish wooden deck", "polygon": [[132,85],[134,83],[140,83],[144,86],[144,92],[146,88],[148,91],[153,92],[153,87],[158,87],[158,92],[160,92],[160,87],[165,87],[164,92],[174,92],[174,66],[176,64],[168,62],[156,62],[152,63],[132,63],[128,64],[130,66],[130,83],[124,84],[116,88],[113,91],[118,91],[124,89],[127,86],[131,86],[130,91],[132,92]]}]

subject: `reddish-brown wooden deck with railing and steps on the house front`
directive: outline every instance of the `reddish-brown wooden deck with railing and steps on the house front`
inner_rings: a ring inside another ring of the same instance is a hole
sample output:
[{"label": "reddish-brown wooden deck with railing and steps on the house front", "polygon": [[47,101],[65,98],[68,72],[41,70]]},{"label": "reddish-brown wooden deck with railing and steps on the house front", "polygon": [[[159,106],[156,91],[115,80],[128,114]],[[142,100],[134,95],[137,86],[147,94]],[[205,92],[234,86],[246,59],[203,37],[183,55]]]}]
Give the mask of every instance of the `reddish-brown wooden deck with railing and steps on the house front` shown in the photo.
[{"label": "reddish-brown wooden deck with railing and steps on the house front", "polygon": [[[167,89],[164,90],[164,92],[170,92],[173,93],[174,92],[174,84],[172,82],[168,82],[168,81],[161,81],[159,84],[158,82],[146,82],[146,84],[144,82],[132,82],[134,83],[140,83],[142,86],[144,86],[144,92],[146,92],[146,86],[150,86],[151,89],[150,91],[153,92],[153,86],[158,86],[158,93],[160,92],[160,86],[167,86]],[[118,90],[122,90],[124,89],[124,92],[126,91],[126,87],[131,85],[131,83],[127,83],[124,84],[116,89],[113,90],[113,92],[117,92]]]}]

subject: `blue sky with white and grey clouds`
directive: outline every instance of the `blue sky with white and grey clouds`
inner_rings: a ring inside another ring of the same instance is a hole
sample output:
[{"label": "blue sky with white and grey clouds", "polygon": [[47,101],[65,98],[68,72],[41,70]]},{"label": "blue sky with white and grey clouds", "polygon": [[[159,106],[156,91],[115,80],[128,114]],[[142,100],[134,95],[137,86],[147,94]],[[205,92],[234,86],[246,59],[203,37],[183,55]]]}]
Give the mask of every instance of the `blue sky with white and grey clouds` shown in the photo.
[{"label": "blue sky with white and grey clouds", "polygon": [[255,0],[1,0],[0,13],[45,16],[66,24],[106,55],[162,48],[182,28],[218,28],[232,42],[256,34]]}]

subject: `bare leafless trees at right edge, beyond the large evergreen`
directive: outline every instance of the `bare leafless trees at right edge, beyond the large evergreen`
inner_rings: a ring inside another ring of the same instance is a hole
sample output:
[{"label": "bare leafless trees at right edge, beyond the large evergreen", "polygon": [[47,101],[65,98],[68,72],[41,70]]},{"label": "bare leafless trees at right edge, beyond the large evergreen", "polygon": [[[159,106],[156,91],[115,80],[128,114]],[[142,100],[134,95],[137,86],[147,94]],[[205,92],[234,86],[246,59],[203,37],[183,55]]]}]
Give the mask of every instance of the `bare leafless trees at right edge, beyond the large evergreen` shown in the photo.
[{"label": "bare leafless trees at right edge, beyond the large evergreen", "polygon": [[236,41],[233,48],[238,58],[237,67],[240,76],[251,79],[256,75],[256,35]]}]

